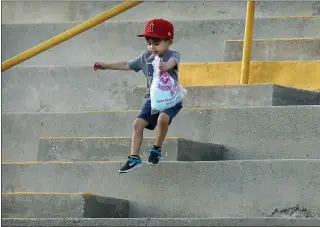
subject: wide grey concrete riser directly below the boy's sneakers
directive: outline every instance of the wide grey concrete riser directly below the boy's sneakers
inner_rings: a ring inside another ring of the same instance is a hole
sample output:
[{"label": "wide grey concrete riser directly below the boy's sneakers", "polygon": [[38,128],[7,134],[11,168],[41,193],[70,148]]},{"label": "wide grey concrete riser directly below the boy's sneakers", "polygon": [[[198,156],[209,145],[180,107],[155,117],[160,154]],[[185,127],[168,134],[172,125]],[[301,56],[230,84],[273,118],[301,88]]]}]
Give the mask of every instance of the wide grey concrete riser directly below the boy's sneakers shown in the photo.
[{"label": "wide grey concrete riser directly below the boy's sneakers", "polygon": [[124,162],[2,164],[2,191],[82,192],[130,201],[129,217],[263,217],[320,213],[320,160],[162,162],[118,173]]}]

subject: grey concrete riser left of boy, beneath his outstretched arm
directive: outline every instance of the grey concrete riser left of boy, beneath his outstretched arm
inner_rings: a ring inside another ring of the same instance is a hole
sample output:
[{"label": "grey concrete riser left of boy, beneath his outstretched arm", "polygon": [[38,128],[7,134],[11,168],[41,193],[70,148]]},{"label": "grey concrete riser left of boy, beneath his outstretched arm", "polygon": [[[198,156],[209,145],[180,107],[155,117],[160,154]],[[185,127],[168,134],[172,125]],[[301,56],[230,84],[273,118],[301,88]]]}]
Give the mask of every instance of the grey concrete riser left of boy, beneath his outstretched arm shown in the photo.
[{"label": "grey concrete riser left of boy, beneath his outstretched arm", "polygon": [[126,95],[146,84],[142,74],[92,66],[15,67],[1,77],[4,112],[129,109]]}]

